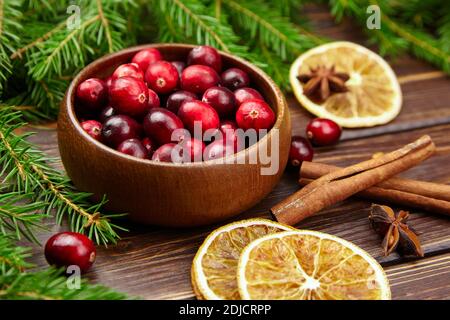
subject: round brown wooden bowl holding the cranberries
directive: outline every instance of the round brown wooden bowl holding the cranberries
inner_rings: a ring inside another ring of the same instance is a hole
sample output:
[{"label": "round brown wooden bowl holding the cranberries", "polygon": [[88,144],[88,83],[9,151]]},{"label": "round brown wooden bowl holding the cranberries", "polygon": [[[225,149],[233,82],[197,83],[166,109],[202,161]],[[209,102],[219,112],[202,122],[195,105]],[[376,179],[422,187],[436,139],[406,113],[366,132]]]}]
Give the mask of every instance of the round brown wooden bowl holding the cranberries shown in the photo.
[{"label": "round brown wooden bowl holding the cranberries", "polygon": [[[128,212],[134,221],[160,226],[211,224],[252,207],[273,189],[285,169],[291,124],[280,89],[263,71],[240,58],[221,52],[224,68],[238,67],[249,74],[252,85],[274,109],[277,118],[273,129],[277,130],[270,130],[257,144],[227,157],[227,161],[238,160],[235,163],[224,164],[220,159],[187,164],[141,160],[97,142],[81,128],[74,112],[78,84],[87,78],[110,75],[136,52],[150,47],[159,49],[167,60],[185,60],[193,48],[186,44],[152,44],[125,49],[89,64],[70,84],[59,114],[58,144],[74,185],[93,193],[95,200],[106,195],[110,211]],[[261,175],[264,166],[259,157],[253,164],[249,159],[260,149],[270,149],[276,131],[279,168],[273,175]]]}]

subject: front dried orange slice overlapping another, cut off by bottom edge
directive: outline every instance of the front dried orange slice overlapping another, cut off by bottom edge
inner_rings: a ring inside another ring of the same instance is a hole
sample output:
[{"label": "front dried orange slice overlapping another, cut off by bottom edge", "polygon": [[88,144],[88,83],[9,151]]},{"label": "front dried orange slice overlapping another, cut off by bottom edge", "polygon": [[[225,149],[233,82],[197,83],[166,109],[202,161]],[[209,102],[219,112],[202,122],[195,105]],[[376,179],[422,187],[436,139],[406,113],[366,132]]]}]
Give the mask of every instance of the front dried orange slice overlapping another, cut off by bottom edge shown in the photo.
[{"label": "front dried orange slice overlapping another, cut off by bottom edge", "polygon": [[288,231],[251,242],[238,265],[242,299],[384,300],[386,275],[367,252],[316,231]]}]

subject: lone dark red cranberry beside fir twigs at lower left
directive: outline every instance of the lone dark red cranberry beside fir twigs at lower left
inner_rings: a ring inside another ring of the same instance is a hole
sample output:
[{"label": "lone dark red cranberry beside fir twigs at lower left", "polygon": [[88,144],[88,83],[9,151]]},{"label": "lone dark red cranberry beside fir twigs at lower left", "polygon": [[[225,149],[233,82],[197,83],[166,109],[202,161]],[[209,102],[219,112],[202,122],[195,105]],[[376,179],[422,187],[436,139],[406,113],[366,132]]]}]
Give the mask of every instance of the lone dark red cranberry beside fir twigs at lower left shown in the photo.
[{"label": "lone dark red cranberry beside fir twigs at lower left", "polygon": [[68,267],[77,265],[87,271],[95,261],[95,246],[92,241],[76,232],[61,232],[53,235],[45,244],[45,259],[50,265]]}]

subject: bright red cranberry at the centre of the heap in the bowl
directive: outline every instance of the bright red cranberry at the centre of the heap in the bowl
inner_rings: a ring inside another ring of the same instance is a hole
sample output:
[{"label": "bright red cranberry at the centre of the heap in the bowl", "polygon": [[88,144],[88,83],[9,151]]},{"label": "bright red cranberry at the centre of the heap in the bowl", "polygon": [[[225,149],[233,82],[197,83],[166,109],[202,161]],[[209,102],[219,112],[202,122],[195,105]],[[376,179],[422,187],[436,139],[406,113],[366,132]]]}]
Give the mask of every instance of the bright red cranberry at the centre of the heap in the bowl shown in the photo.
[{"label": "bright red cranberry at the centre of the heap in the bowl", "polygon": [[201,133],[208,129],[219,128],[219,115],[209,104],[202,101],[185,101],[178,110],[178,116],[191,133],[195,133],[197,122],[201,123]]}]

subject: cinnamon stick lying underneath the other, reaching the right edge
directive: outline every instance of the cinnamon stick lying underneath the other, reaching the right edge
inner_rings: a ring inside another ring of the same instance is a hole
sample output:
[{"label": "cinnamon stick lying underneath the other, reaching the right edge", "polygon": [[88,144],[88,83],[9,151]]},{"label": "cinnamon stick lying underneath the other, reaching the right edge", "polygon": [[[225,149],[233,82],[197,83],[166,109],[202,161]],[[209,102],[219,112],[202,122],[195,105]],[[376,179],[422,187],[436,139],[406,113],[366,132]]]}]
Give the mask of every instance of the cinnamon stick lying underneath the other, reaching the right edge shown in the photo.
[{"label": "cinnamon stick lying underneath the other, reaching the right edge", "polygon": [[[299,184],[301,186],[305,186],[313,181],[313,179],[301,178],[299,180]],[[381,183],[374,187],[370,187],[367,190],[358,192],[355,196],[377,202],[392,203],[400,206],[408,206],[434,213],[450,215],[450,201],[430,198],[424,195],[396,189],[382,188]]]}]

